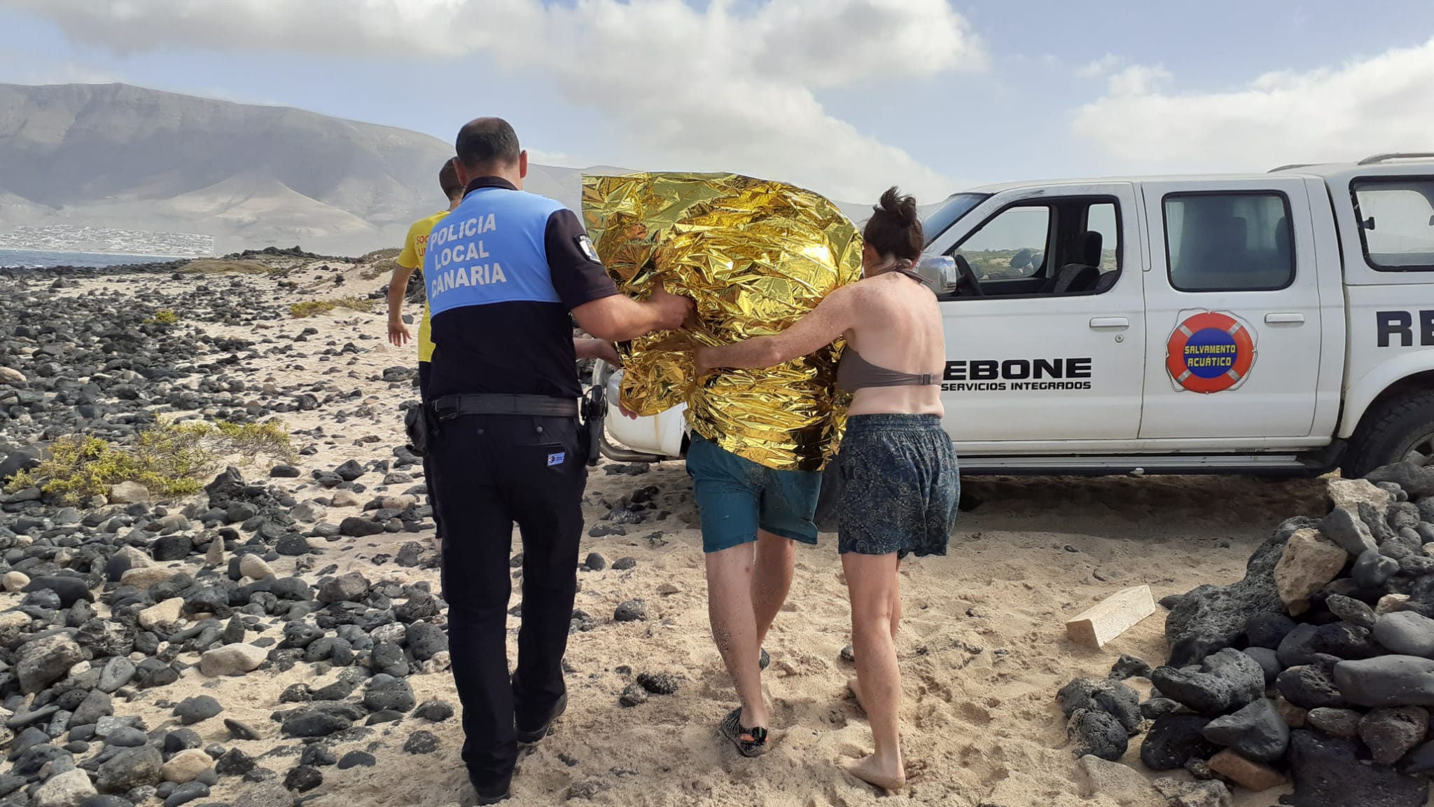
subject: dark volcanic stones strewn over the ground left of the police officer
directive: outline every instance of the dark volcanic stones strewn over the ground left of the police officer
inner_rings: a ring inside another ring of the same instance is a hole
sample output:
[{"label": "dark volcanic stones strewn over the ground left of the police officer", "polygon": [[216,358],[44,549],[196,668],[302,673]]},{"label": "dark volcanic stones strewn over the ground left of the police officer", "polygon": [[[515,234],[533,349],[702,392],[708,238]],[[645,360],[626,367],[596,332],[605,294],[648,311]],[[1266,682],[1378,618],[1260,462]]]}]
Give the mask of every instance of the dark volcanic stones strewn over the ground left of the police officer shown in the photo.
[{"label": "dark volcanic stones strewn over the ground left of the police officer", "polygon": [[[436,675],[449,665],[446,605],[435,594],[422,465],[393,445],[416,372],[394,363],[346,373],[358,383],[255,381],[277,369],[303,376],[308,362],[334,375],[374,352],[314,345],[318,329],[281,322],[287,297],[343,286],[353,263],[315,258],[229,257],[265,270],[287,261],[268,291],[178,264],[0,277],[11,303],[0,310],[0,478],[10,480],[0,494],[0,750],[10,762],[0,804],[293,804],[326,777],[376,767],[384,738],[390,752],[424,757],[445,742],[427,727],[456,724],[452,684]],[[156,276],[169,283],[145,283]],[[228,467],[168,503],[136,482],[83,501],[42,490],[44,447],[66,435],[125,447],[158,424],[304,415],[321,422],[290,435],[303,470]],[[370,434],[336,434],[356,422]],[[361,449],[350,455],[381,457],[326,465],[341,441]],[[16,474],[42,475],[30,485]],[[647,507],[625,503],[622,523],[642,521]],[[588,566],[607,561],[592,554]],[[645,615],[625,603],[615,619]],[[576,615],[575,630],[594,625]],[[295,668],[304,681],[275,694],[264,722],[231,717],[222,696],[174,694]],[[445,696],[420,698],[416,676]],[[677,686],[663,673],[644,681],[654,692]],[[625,701],[637,692],[647,689]]]}]

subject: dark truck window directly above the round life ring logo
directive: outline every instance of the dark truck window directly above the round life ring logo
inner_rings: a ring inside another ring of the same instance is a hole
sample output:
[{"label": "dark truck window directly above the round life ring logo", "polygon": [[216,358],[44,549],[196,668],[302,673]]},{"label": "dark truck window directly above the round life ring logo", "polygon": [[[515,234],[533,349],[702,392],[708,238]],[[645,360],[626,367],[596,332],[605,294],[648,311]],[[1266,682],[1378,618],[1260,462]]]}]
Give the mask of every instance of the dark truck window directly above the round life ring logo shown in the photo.
[{"label": "dark truck window directly above the round life ring logo", "polygon": [[1180,291],[1273,291],[1295,281],[1281,192],[1169,194],[1164,227],[1170,286]]}]

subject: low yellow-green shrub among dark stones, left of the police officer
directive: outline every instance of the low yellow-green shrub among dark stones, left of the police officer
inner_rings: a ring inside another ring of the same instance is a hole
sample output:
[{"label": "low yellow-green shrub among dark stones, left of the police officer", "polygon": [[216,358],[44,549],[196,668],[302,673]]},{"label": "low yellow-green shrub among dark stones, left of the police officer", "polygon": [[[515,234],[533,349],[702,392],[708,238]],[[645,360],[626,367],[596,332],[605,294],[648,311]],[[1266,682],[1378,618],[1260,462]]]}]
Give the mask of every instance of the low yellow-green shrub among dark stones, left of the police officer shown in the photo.
[{"label": "low yellow-green shrub among dark stones, left of the police officer", "polygon": [[258,455],[297,460],[281,421],[161,424],[123,447],[98,437],[62,437],[50,444],[39,468],[14,475],[6,490],[39,485],[69,504],[83,504],[109,495],[110,485],[139,482],[158,498],[174,498],[202,490],[231,454],[242,455],[244,462]]}]

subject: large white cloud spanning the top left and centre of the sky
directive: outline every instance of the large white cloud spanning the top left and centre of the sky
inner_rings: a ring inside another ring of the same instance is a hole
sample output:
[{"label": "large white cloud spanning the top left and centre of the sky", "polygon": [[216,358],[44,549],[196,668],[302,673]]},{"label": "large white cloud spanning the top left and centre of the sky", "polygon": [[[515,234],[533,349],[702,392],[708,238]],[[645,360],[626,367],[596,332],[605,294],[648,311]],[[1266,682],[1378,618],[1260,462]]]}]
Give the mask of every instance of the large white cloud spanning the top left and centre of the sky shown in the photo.
[{"label": "large white cloud spanning the top left and centre of the sky", "polygon": [[[552,78],[652,165],[731,169],[837,198],[949,182],[826,112],[815,90],[984,69],[949,0],[0,0],[115,52],[156,47],[452,57]],[[462,82],[457,82],[462,83]],[[459,93],[482,113],[479,86]],[[523,132],[519,132],[523,135]],[[552,142],[554,138],[533,136]],[[568,148],[587,151],[581,142]],[[640,167],[641,168],[641,167]]]}]

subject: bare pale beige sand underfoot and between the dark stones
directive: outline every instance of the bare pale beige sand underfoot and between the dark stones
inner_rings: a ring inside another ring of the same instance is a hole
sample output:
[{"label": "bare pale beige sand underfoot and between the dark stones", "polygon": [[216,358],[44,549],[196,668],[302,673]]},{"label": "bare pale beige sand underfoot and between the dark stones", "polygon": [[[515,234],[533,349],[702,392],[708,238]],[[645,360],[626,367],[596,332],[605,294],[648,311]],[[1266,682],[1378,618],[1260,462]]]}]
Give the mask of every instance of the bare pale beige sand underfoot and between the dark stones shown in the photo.
[{"label": "bare pale beige sand underfoot and between the dark stones", "polygon": [[[291,276],[301,290],[281,290],[271,279],[252,281],[287,303],[310,296],[340,296],[371,290],[384,280],[363,281],[357,269],[343,267],[350,281],[331,283],[331,270],[304,269]],[[75,293],[83,293],[95,280]],[[136,289],[174,287],[168,279],[143,279]],[[112,286],[110,286],[112,287]],[[417,306],[409,306],[417,313]],[[184,316],[184,312],[178,312]],[[222,327],[247,339],[274,336],[280,345],[304,327],[318,335],[295,350],[308,358],[265,356],[248,362],[235,376],[280,388],[323,381],[361,398],[330,404],[315,412],[284,419],[295,445],[313,444],[318,454],[300,464],[305,477],[275,480],[298,500],[321,495],[307,484],[313,468],[331,470],[344,460],[391,458],[403,442],[397,404],[416,398],[406,385],[377,381],[386,366],[414,362],[413,347],[384,343],[381,309],[357,313],[338,309],[305,320],[265,322],[261,327]],[[416,333],[416,329],[414,329]],[[346,343],[357,355],[320,358]],[[260,345],[261,352],[268,346]],[[262,399],[262,395],[255,395]],[[321,395],[323,398],[323,395]],[[363,406],[360,406],[363,405]],[[337,422],[337,412],[348,412]],[[321,426],[324,437],[313,437]],[[341,435],[341,437],[340,437]],[[366,438],[377,442],[363,442]],[[248,477],[265,468],[251,468]],[[410,468],[419,475],[419,468]],[[373,485],[379,477],[364,477]],[[985,503],[964,513],[952,534],[949,556],[908,561],[902,574],[905,620],[896,640],[901,656],[902,727],[911,785],[895,800],[952,807],[1091,806],[1111,807],[1077,788],[1074,747],[1067,741],[1055,691],[1071,678],[1104,676],[1121,655],[1153,665],[1166,653],[1163,612],[1146,619],[1103,650],[1076,646],[1064,638],[1064,620],[1104,596],[1149,583],[1159,599],[1200,583],[1238,579],[1245,560],[1283,518],[1321,513],[1316,481],[1266,482],[1246,478],[1020,478],[967,480]],[[721,717],[736,705],[707,626],[706,584],[691,487],[681,464],[652,467],[650,474],[608,475],[595,468],[588,485],[588,523],[608,508],[604,501],[644,485],[660,488],[658,501],[671,516],[627,526],[627,536],[585,538],[582,553],[602,553],[608,561],[637,559],[627,572],[579,573],[576,607],[594,617],[591,632],[569,642],[571,706],[558,731],[522,760],[512,804],[554,804],[575,796],[597,804],[685,806],[771,804],[827,807],[876,804],[883,796],[843,774],[837,765],[870,748],[862,712],[845,698],[853,665],[840,659],[849,639],[849,609],[835,551],[835,536],[822,546],[800,549],[792,594],[773,626],[767,649],[773,666],[766,689],[773,704],[773,750],[760,760],[739,758],[716,735]],[[394,485],[387,493],[402,493]],[[383,493],[383,488],[373,488]],[[369,494],[364,494],[367,498]],[[330,508],[337,523],[356,508]],[[419,538],[427,541],[432,531]],[[651,537],[650,537],[651,536]],[[337,564],[360,569],[370,579],[424,579],[437,587],[437,574],[374,564],[377,554],[394,554],[413,534],[344,538],[324,544],[315,570]],[[515,534],[513,551],[521,551]],[[275,564],[281,574],[293,560]],[[614,607],[628,599],[647,602],[647,622],[615,623]],[[515,592],[513,602],[519,600]],[[509,622],[511,658],[518,619]],[[277,635],[277,629],[268,635]],[[252,640],[252,639],[251,639]],[[185,658],[194,662],[194,658]],[[652,696],[645,705],[621,708],[618,695],[640,672],[671,672],[681,688]],[[186,672],[185,678],[139,699],[116,701],[119,714],[141,714],[149,727],[172,722],[163,704],[194,694],[215,695],[224,717],[250,722],[265,740],[238,742],[251,754],[270,752],[261,764],[282,775],[297,764],[301,744],[284,741],[270,714],[281,708],[280,692],[295,682],[315,686],[336,672],[315,676],[307,665],[285,673],[251,673],[214,681]],[[445,698],[457,705],[449,673],[416,675],[419,699]],[[1136,681],[1140,688],[1147,682]],[[288,706],[284,706],[288,708]],[[212,724],[212,725],[211,725]],[[195,727],[206,742],[227,742],[221,721]],[[437,752],[424,757],[400,748],[412,731],[433,731]],[[417,718],[377,727],[369,737],[340,744],[370,750],[376,768],[324,768],[324,784],[308,794],[315,806],[377,807],[394,804],[445,806],[457,801],[463,781],[459,761],[462,731],[457,719],[430,725]],[[1129,762],[1139,765],[1139,738]],[[1184,775],[1184,774],[1180,774]],[[574,788],[576,785],[576,788]],[[209,801],[232,800],[242,785],[227,778]],[[574,788],[569,793],[569,788]],[[1239,807],[1271,804],[1279,791],[1239,791]]]}]

